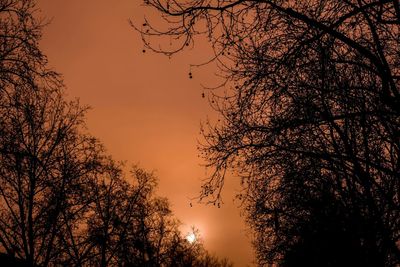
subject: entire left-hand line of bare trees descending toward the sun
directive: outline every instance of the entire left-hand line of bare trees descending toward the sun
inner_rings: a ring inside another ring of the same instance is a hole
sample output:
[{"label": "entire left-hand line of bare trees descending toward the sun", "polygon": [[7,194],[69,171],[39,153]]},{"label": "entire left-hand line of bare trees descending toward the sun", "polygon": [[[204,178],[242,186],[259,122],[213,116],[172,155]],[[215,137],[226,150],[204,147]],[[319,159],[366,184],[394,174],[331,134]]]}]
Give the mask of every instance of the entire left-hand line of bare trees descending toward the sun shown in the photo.
[{"label": "entire left-hand line of bare trees descending toward the sun", "polygon": [[157,179],[85,129],[38,47],[35,1],[0,0],[0,265],[230,266],[188,244]]}]

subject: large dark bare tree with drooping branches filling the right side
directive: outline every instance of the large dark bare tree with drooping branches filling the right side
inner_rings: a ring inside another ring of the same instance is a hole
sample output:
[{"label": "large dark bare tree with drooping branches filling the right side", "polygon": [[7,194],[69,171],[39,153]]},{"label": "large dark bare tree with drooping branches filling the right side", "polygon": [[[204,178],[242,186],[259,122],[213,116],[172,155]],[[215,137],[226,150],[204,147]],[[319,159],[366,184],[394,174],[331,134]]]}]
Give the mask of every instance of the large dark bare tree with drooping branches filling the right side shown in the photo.
[{"label": "large dark bare tree with drooping branches filling the right side", "polygon": [[167,25],[134,25],[147,48],[171,55],[203,34],[214,49],[226,80],[211,91],[222,120],[204,126],[215,172],[201,197],[218,202],[226,170],[237,172],[259,264],[318,253],[316,265],[351,265],[348,251],[356,265],[398,264],[398,1],[145,5]]}]

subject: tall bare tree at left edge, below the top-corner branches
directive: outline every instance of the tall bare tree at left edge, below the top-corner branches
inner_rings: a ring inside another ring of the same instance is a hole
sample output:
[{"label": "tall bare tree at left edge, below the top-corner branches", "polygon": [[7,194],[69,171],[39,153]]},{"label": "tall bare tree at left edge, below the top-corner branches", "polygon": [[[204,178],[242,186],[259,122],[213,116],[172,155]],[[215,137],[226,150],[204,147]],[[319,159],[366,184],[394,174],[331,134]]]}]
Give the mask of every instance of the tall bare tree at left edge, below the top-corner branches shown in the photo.
[{"label": "tall bare tree at left edge, below the top-corner branches", "polygon": [[1,246],[29,266],[59,253],[62,215],[80,209],[81,191],[101,165],[101,146],[78,132],[84,109],[60,90],[18,88],[1,99]]}]

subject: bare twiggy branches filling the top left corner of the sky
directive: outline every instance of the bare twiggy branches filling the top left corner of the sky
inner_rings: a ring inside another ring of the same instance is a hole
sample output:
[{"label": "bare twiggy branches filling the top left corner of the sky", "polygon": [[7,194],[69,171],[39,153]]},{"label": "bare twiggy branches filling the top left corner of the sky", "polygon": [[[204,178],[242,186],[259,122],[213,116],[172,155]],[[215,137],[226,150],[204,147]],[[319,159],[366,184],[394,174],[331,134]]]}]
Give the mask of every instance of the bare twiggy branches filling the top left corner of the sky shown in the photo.
[{"label": "bare twiggy branches filling the top left corner of the sky", "polygon": [[44,21],[36,17],[36,1],[0,1],[0,94],[34,88],[35,79],[57,82],[39,49]]}]

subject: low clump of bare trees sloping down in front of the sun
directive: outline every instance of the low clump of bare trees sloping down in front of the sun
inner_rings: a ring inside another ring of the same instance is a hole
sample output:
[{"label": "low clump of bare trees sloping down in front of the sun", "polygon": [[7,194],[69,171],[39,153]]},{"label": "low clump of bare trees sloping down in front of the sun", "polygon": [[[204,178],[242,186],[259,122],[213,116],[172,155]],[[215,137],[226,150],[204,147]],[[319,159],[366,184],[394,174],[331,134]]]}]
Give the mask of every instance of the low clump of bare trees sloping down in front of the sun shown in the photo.
[{"label": "low clump of bare trees sloping down in front of the sun", "polygon": [[88,187],[93,201],[68,227],[67,249],[58,263],[70,266],[232,266],[211,256],[202,242],[189,243],[168,200],[155,195],[157,179],[135,166],[128,183],[121,166],[108,169]]}]

